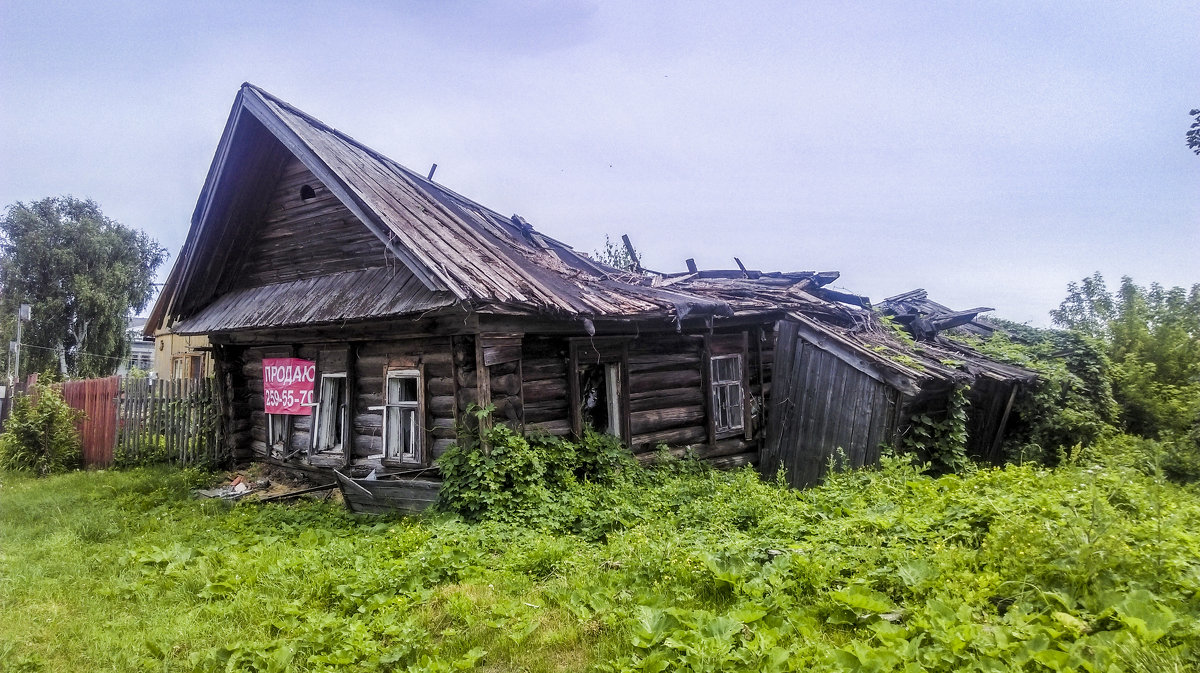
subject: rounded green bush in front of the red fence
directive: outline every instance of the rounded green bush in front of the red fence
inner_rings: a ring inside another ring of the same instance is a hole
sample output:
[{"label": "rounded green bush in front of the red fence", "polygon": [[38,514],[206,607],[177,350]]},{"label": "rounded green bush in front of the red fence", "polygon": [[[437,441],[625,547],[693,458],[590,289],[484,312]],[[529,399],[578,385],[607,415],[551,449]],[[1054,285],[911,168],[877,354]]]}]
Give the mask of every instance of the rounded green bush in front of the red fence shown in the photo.
[{"label": "rounded green bush in front of the red fence", "polygon": [[76,423],[80,415],[49,386],[18,397],[0,434],[0,469],[38,476],[79,469],[83,451]]}]

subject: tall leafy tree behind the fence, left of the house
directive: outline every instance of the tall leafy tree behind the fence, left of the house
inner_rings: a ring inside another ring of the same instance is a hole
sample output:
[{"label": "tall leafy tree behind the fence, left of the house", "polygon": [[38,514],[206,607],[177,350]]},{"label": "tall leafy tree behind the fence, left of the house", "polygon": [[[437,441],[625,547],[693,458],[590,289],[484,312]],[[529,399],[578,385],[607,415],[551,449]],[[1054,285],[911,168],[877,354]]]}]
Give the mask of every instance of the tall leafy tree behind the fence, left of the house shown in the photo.
[{"label": "tall leafy tree behind the fence, left of the house", "polygon": [[[126,318],[154,295],[167,251],[106,217],[92,200],[46,198],[10,205],[0,218],[0,311],[32,305],[22,371],[109,374],[128,353]],[[11,324],[11,323],[10,323]]]}]

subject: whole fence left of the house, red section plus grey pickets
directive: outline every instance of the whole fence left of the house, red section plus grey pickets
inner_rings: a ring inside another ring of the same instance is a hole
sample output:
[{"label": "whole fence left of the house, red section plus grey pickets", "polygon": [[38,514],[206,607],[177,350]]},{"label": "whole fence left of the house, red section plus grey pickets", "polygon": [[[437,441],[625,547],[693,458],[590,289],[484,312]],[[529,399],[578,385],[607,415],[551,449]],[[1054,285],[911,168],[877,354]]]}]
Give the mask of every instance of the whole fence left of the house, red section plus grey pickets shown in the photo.
[{"label": "whole fence left of the house, red section plus grey pickets", "polygon": [[108,377],[66,381],[62,397],[83,415],[84,464],[218,463],[215,379]]}]

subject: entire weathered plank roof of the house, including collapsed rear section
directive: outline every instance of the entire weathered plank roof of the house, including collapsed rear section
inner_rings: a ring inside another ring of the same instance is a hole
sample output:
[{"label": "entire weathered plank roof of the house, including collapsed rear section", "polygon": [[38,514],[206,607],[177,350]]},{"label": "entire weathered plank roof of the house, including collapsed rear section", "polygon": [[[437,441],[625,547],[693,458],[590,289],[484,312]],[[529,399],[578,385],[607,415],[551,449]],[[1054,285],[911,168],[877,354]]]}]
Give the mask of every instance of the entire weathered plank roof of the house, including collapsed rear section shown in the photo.
[{"label": "entire weathered plank roof of the house, including collapsed rear section", "polygon": [[[235,287],[269,193],[284,162],[298,158],[373,234],[394,263]],[[690,260],[689,260],[690,262]],[[212,334],[425,314],[449,307],[577,319],[779,317],[869,365],[902,391],[986,375],[1025,380],[1007,367],[938,337],[948,326],[991,328],[985,308],[953,312],[924,290],[884,300],[923,343],[913,348],[881,323],[866,298],[828,286],[835,271],[618,270],[547,236],[523,218],[467,199],[300,112],[242,84],[200,192],[192,226],[146,334]]]}]

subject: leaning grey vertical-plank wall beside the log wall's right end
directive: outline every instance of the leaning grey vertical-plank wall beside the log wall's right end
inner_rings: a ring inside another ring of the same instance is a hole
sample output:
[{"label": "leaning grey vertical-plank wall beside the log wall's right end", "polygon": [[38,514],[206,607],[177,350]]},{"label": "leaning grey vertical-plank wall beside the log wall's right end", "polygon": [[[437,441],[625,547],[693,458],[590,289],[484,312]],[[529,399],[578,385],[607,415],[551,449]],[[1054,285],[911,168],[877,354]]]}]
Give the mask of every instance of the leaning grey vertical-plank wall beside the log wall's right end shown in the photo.
[{"label": "leaning grey vertical-plank wall beside the log wall's right end", "polygon": [[900,393],[804,339],[794,323],[780,323],[778,338],[763,475],[782,467],[788,483],[803,487],[830,462],[877,462],[880,446],[894,441]]}]

